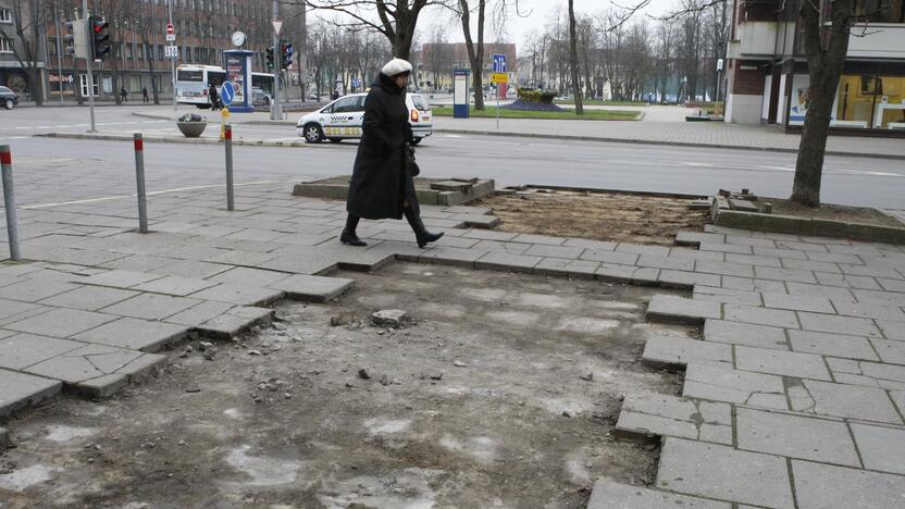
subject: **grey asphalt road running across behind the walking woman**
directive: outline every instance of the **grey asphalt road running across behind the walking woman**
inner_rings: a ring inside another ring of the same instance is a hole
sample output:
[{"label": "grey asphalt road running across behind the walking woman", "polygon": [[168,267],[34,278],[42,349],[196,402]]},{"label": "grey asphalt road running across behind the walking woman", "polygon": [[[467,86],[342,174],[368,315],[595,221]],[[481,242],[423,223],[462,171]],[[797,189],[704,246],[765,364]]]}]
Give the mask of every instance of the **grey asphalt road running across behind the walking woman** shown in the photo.
[{"label": "grey asphalt road running across behind the walking woman", "polygon": [[[168,121],[136,117],[134,110],[98,108],[98,128],[175,133]],[[20,203],[134,191],[131,144],[33,137],[48,132],[84,133],[87,110],[45,108],[0,113],[0,144],[12,145],[17,161]],[[292,126],[237,125],[236,131],[245,138],[298,139]],[[237,147],[236,178],[250,183],[345,174],[350,172],[356,147],[349,141],[303,148]],[[150,190],[221,184],[222,150],[218,146],[148,144]],[[795,154],[438,133],[419,148],[418,160],[425,176],[481,176],[495,178],[498,186],[537,184],[694,195],[746,187],[763,196],[785,197],[792,188]],[[825,202],[902,209],[903,196],[905,164],[901,160],[826,160]]]}]

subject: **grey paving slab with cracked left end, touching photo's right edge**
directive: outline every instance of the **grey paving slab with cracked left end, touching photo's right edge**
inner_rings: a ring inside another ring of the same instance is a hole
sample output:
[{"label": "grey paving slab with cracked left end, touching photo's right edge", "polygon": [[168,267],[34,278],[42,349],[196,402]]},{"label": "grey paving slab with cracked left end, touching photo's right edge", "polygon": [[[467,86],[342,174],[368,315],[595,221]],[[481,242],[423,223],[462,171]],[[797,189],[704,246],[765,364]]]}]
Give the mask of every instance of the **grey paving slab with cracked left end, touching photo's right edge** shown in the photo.
[{"label": "grey paving slab with cracked left end, touching photo's right edge", "polygon": [[796,393],[792,410],[902,424],[887,393],[879,388],[805,380]]}]

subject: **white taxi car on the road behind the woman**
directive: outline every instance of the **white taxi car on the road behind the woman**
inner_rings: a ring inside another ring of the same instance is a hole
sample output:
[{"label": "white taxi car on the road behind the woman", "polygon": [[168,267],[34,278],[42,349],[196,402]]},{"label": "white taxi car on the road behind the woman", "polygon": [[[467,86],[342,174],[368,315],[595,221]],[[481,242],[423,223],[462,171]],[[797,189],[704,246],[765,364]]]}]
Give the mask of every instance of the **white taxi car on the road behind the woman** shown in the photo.
[{"label": "white taxi car on the road behind the woman", "polygon": [[[367,97],[367,92],[350,94],[305,114],[298,120],[296,132],[309,144],[320,144],[324,139],[338,144],[344,139],[361,138]],[[431,105],[418,94],[406,94],[406,105],[409,109],[409,125],[414,134],[414,144],[418,145],[434,133]]]}]

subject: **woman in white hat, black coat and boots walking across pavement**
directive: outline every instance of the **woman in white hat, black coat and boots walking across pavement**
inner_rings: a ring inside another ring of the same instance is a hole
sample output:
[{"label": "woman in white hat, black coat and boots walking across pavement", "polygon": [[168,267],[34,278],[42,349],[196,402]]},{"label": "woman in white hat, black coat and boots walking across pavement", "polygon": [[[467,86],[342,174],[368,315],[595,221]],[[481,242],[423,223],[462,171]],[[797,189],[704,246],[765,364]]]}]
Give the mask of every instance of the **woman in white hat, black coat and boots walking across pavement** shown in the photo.
[{"label": "woman in white hat, black coat and boots walking across pavement", "polygon": [[421,222],[414,195],[412,169],[408,162],[407,142],[412,139],[406,86],[411,64],[393,59],[381,70],[364,101],[361,144],[355,159],[346,210],[346,227],[339,236],[343,244],[367,246],[356,235],[361,218],[369,220],[408,220],[418,247],[443,236],[427,232]]}]

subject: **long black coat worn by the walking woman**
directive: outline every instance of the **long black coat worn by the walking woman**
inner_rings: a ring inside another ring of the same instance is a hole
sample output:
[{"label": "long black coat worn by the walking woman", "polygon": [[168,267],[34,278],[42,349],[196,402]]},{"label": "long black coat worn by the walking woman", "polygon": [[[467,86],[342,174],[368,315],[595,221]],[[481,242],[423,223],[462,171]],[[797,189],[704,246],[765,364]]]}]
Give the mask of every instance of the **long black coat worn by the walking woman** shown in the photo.
[{"label": "long black coat worn by the walking woman", "polygon": [[412,139],[406,95],[383,73],[368,92],[361,131],[346,210],[369,220],[401,219],[405,198],[418,212],[405,158]]}]

